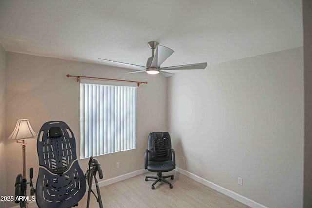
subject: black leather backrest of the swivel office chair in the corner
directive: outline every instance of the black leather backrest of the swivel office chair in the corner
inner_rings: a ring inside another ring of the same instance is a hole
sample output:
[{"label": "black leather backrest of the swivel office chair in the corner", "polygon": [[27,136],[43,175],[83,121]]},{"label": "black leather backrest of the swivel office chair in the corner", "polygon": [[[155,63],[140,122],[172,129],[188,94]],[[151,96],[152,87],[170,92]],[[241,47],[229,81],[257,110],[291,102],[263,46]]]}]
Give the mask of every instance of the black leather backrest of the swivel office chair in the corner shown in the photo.
[{"label": "black leather backrest of the swivel office chair in the corner", "polygon": [[153,132],[148,136],[147,149],[150,161],[171,160],[171,139],[167,132]]}]

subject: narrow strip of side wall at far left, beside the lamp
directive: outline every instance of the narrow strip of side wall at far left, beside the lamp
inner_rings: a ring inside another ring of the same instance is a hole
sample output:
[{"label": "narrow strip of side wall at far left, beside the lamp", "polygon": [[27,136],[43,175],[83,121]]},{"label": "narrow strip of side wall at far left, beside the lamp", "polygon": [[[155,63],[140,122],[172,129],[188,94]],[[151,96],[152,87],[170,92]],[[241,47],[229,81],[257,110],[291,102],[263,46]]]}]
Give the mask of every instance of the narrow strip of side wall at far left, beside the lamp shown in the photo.
[{"label": "narrow strip of side wall at far left, beside the lamp", "polygon": [[5,139],[5,50],[0,44],[0,196],[6,195]]}]

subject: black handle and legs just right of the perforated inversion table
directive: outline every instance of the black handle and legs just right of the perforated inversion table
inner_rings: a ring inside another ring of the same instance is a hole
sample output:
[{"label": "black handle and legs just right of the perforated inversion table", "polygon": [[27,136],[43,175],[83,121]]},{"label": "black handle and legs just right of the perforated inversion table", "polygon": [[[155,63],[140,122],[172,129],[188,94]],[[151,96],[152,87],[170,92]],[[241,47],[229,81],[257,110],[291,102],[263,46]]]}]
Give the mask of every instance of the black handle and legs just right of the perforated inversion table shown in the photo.
[{"label": "black handle and legs just right of the perforated inversion table", "polygon": [[[99,187],[98,187],[98,180],[96,178],[97,171],[98,171],[99,178],[102,179],[103,178],[103,172],[102,172],[101,164],[99,164],[99,162],[98,162],[98,160],[96,158],[90,157],[90,159],[89,159],[89,168],[88,168],[88,170],[87,170],[87,172],[85,174],[86,180],[87,180],[88,185],[89,185],[87,208],[89,208],[91,192],[96,197],[97,202],[99,204],[99,207],[103,208],[101,193],[100,193]],[[94,178],[94,182],[96,184],[98,197],[96,196],[96,194],[91,189],[92,188],[92,179],[93,178]]]}]

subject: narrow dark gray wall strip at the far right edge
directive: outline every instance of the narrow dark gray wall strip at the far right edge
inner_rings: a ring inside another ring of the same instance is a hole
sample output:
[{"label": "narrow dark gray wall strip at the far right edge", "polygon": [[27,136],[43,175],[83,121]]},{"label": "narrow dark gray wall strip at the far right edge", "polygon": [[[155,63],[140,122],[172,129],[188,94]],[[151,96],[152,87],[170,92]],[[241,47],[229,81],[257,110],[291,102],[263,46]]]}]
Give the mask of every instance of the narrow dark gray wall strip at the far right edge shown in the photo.
[{"label": "narrow dark gray wall strip at the far right edge", "polygon": [[303,0],[305,159],[304,208],[312,207],[312,1]]}]

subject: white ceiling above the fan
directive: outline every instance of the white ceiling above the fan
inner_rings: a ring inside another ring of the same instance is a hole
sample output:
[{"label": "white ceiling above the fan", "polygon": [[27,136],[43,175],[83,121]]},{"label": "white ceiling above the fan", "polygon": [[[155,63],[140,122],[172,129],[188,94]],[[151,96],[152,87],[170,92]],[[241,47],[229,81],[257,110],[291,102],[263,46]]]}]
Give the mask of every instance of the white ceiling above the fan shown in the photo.
[{"label": "white ceiling above the fan", "polygon": [[302,0],[0,0],[6,51],[145,66],[148,41],[175,51],[162,67],[299,47]]}]

